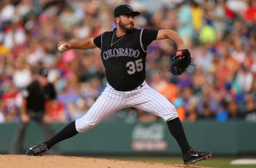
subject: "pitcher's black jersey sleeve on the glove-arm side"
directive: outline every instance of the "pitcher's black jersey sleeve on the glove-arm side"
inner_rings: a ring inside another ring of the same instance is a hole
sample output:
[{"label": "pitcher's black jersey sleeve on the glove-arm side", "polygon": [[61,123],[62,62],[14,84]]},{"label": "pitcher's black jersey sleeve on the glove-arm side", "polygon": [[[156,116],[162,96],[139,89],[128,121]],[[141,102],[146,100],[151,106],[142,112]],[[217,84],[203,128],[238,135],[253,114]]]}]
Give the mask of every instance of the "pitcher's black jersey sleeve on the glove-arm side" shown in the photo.
[{"label": "pitcher's black jersey sleeve on the glove-arm side", "polygon": [[146,48],[148,45],[150,45],[150,43],[152,43],[152,41],[156,39],[157,34],[158,30],[143,29],[141,37],[143,47]]}]

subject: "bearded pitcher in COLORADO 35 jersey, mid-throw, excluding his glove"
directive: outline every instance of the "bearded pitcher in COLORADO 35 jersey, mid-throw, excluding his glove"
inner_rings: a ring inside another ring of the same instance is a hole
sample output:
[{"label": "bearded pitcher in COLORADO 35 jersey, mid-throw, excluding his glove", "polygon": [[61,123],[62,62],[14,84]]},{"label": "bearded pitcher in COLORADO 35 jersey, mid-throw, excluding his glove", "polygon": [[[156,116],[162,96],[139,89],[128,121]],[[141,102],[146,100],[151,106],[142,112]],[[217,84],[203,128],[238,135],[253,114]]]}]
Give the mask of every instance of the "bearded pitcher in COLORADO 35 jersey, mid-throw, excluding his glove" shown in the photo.
[{"label": "bearded pitcher in COLORADO 35 jersey, mid-throw, excluding his glove", "polygon": [[174,30],[135,29],[134,16],[139,14],[130,5],[119,5],[114,11],[116,28],[113,31],[71,44],[64,41],[58,44],[63,51],[98,47],[105,66],[107,87],[83,117],[69,123],[43,144],[29,148],[26,155],[39,155],[61,140],[92,129],[111,113],[126,107],[162,117],[181,148],[185,164],[212,155],[189,146],[175,107],[145,81],[147,46],[153,40],[169,39],[181,50],[186,49],[183,40]]}]

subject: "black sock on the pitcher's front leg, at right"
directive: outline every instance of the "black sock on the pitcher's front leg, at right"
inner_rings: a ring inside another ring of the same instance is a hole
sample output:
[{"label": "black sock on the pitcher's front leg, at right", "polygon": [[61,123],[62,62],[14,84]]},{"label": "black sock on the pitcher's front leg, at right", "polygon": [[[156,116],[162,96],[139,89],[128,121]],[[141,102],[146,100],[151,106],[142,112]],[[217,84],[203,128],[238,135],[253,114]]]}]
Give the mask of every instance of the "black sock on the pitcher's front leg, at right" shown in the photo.
[{"label": "black sock on the pitcher's front leg, at right", "polygon": [[188,152],[189,145],[188,145],[188,140],[186,138],[186,135],[183,130],[179,117],[177,117],[176,119],[167,121],[167,125],[172,136],[178,142],[180,149],[182,151],[182,154],[183,155],[186,154]]}]

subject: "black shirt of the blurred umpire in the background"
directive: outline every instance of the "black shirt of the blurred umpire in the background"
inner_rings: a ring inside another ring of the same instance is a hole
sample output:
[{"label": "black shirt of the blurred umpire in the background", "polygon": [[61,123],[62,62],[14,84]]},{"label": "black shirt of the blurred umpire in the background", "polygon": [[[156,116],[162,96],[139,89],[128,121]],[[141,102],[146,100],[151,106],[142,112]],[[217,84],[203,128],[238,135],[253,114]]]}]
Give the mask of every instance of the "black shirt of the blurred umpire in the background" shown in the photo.
[{"label": "black shirt of the blurred umpire in the background", "polygon": [[34,112],[44,111],[46,100],[56,98],[56,92],[52,83],[48,83],[45,87],[40,87],[37,80],[22,90],[22,95],[27,99],[27,110]]}]

